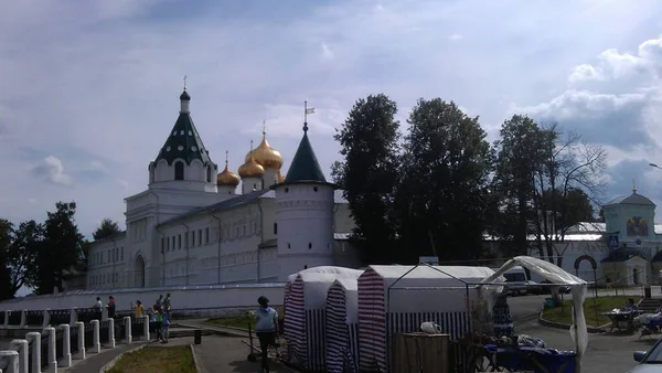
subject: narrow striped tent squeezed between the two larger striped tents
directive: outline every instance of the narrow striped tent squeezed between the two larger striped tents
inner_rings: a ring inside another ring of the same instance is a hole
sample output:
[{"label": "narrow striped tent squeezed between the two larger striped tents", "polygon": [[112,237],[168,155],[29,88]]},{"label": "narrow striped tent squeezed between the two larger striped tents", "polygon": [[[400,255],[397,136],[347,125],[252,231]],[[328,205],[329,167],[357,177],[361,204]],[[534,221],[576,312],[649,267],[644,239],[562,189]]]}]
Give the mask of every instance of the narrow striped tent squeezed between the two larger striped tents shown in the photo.
[{"label": "narrow striped tent squeezed between the two larger striped tents", "polygon": [[327,371],[359,371],[359,283],[333,281],[327,292]]}]

